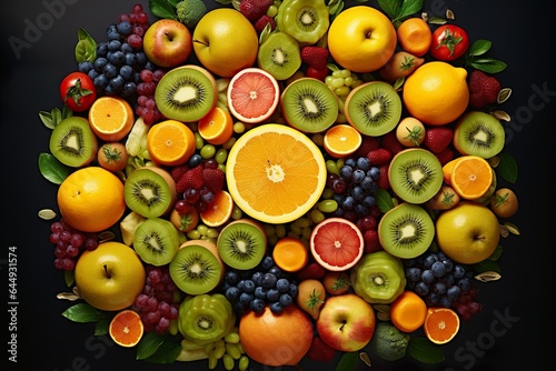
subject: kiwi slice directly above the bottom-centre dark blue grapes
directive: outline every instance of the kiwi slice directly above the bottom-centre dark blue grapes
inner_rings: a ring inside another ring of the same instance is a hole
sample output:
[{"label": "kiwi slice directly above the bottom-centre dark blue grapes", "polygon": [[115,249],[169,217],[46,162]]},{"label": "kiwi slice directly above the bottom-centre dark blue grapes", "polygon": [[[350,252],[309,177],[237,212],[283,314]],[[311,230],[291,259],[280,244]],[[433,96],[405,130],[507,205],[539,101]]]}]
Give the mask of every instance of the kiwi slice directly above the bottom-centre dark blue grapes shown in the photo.
[{"label": "kiwi slice directly above the bottom-centre dark blue grapes", "polygon": [[257,267],[265,257],[267,234],[260,224],[244,218],[226,224],[216,244],[227,265],[247,270]]}]

